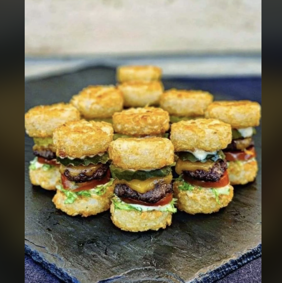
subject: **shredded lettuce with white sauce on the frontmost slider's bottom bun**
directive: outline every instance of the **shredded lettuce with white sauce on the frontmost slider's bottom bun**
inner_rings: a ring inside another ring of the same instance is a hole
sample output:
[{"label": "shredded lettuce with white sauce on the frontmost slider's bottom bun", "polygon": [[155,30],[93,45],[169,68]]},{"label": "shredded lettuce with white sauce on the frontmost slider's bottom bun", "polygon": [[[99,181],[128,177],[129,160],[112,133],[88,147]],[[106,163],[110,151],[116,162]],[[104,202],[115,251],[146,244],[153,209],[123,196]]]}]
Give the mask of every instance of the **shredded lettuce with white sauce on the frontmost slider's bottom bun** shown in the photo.
[{"label": "shredded lettuce with white sauce on the frontmost slider's bottom bun", "polygon": [[118,196],[114,196],[112,198],[112,202],[115,205],[115,209],[120,209],[120,210],[136,210],[138,212],[143,212],[143,211],[152,211],[152,210],[157,210],[157,211],[168,211],[172,213],[176,213],[177,209],[174,207],[174,205],[177,202],[177,199],[173,199],[169,204],[167,205],[162,205],[162,206],[145,206],[145,205],[136,205],[136,204],[129,204],[126,202],[123,202]]}]

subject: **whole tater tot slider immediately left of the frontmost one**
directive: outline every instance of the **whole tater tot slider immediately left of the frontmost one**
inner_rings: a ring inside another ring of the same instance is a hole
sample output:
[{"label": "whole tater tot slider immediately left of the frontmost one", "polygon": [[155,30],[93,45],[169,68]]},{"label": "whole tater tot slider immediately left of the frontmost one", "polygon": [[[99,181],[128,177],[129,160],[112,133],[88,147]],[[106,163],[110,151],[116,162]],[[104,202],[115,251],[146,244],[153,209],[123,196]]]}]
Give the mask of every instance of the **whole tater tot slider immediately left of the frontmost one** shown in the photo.
[{"label": "whole tater tot slider immediately left of the frontmost one", "polygon": [[68,122],[54,131],[62,184],[53,202],[70,216],[104,212],[113,193],[109,172],[112,125],[106,122]]}]

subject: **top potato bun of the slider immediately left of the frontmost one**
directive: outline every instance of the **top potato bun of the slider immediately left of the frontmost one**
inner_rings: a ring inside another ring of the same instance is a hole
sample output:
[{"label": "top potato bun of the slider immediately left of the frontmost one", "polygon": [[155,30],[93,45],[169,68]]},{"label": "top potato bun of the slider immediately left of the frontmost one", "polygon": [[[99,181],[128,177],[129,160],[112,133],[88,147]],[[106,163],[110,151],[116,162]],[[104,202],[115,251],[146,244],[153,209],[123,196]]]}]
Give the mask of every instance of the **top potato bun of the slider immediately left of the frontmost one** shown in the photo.
[{"label": "top potato bun of the slider immediately left of the frontmost one", "polygon": [[114,130],[106,122],[68,122],[54,131],[53,142],[57,156],[83,158],[104,153],[112,141]]}]

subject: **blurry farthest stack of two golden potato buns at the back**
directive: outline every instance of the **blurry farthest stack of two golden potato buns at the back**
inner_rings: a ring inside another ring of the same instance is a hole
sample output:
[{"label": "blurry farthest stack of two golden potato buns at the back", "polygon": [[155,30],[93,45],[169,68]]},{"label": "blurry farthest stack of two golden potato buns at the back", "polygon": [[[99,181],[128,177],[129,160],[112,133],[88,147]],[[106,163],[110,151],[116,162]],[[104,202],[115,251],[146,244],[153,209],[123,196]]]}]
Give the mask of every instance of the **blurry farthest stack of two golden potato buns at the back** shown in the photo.
[{"label": "blurry farthest stack of two golden potato buns at the back", "polygon": [[117,70],[118,89],[125,107],[159,105],[164,92],[162,69],[156,66],[121,66]]}]

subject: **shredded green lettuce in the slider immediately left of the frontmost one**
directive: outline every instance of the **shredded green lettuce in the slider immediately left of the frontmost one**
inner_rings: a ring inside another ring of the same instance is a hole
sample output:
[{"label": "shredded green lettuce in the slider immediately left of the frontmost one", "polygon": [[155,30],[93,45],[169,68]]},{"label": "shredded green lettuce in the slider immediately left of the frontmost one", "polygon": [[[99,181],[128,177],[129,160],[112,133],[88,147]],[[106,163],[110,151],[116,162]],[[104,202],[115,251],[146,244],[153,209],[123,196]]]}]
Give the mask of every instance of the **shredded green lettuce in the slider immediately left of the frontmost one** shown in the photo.
[{"label": "shredded green lettuce in the slider immediately left of the frontmost one", "polygon": [[87,190],[87,191],[79,191],[79,192],[72,192],[69,190],[65,190],[62,185],[57,185],[56,188],[63,192],[67,199],[65,200],[65,204],[71,204],[75,202],[75,200],[79,196],[84,196],[84,197],[91,197],[91,195],[95,194],[97,196],[102,196],[106,193],[107,188],[112,185],[114,182],[114,179],[111,179],[108,183],[104,185],[98,185],[96,188]]}]

